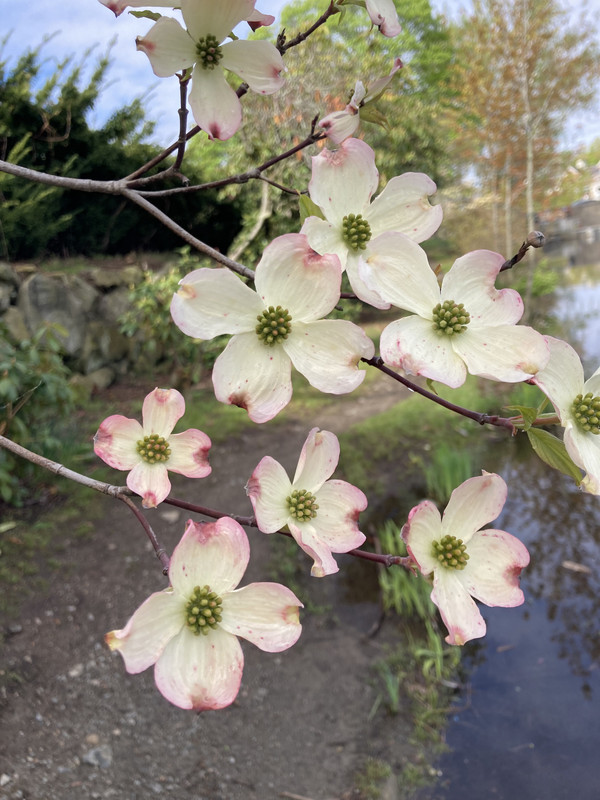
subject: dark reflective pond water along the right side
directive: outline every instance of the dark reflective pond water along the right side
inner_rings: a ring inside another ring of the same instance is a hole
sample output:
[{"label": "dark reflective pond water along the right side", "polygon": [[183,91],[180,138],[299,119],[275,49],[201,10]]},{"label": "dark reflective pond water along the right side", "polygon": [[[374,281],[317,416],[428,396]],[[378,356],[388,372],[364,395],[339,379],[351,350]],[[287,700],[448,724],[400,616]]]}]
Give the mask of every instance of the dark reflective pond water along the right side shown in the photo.
[{"label": "dark reflective pond water along the right side", "polygon": [[[600,255],[598,257],[600,261]],[[573,259],[571,259],[573,263]],[[600,267],[568,267],[544,314],[600,363]],[[527,443],[524,442],[524,445]],[[531,553],[517,609],[482,607],[485,639],[464,648],[465,687],[449,718],[451,752],[428,800],[600,798],[600,498],[585,495],[516,440],[482,465],[508,483],[494,527]]]}]

